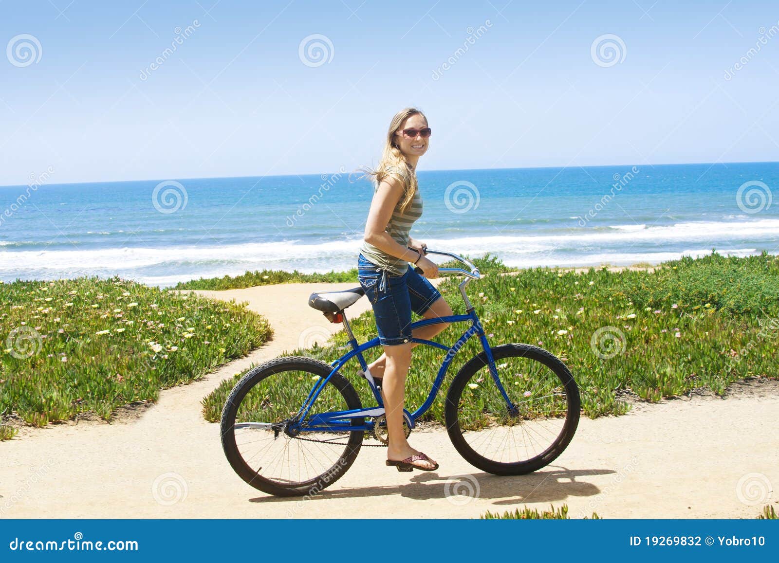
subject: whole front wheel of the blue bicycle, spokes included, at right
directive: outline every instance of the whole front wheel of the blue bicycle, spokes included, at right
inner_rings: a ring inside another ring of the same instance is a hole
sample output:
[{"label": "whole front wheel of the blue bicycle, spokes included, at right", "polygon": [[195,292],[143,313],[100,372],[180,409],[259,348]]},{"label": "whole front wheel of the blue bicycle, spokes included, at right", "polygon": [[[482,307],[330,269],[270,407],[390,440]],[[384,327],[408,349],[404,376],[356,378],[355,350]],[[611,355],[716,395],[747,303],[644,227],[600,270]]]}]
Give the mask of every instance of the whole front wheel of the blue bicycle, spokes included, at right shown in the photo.
[{"label": "whole front wheel of the blue bicycle, spokes included, at right", "polygon": [[559,456],[581,408],[573,375],[557,357],[529,344],[492,348],[500,392],[482,352],[457,373],[446,396],[446,430],[457,452],[495,475],[522,475]]}]

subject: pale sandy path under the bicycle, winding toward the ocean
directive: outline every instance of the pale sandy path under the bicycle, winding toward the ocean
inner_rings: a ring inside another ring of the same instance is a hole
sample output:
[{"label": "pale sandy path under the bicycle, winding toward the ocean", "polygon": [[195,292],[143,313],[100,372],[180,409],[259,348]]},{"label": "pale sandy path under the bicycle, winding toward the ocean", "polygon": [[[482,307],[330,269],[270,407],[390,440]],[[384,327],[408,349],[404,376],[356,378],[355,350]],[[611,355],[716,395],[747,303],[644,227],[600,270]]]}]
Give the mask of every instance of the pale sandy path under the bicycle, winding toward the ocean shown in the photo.
[{"label": "pale sandy path under the bicycle, winding toward the ocean", "polygon": [[[440,280],[439,280],[440,281]],[[199,292],[249,301],[276,330],[274,340],[208,378],[160,394],[136,419],[26,430],[0,443],[0,516],[9,518],[478,517],[486,510],[567,503],[572,517],[753,518],[779,501],[779,382],[734,385],[728,399],[693,397],[640,404],[622,417],[583,419],[573,442],[532,475],[493,477],[466,463],[445,431],[413,444],[441,464],[435,473],[397,473],[385,450],[364,448],[345,477],[310,500],[275,498],[240,480],[224,459],[217,424],[200,399],[252,362],[298,347],[312,326],[332,331],[306,298],[352,283],[291,283]],[[368,301],[354,304],[357,316]],[[760,475],[749,477],[749,474]],[[471,475],[478,498],[447,498],[447,482]],[[756,494],[764,501],[747,505]],[[155,487],[155,482],[157,486]],[[155,494],[156,492],[156,494]],[[746,496],[745,496],[746,494]],[[779,506],[777,506],[779,508]]]}]

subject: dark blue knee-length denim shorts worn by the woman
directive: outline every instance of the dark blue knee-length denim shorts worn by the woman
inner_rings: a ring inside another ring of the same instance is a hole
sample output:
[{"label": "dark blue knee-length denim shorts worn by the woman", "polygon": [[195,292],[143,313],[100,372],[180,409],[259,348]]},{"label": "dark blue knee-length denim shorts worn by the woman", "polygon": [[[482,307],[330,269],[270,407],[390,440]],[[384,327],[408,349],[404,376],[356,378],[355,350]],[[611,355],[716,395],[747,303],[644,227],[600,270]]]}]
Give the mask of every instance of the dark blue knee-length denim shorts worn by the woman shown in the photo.
[{"label": "dark blue knee-length denim shorts worn by the woman", "polygon": [[357,268],[360,285],[373,307],[379,342],[383,346],[411,342],[411,311],[422,315],[441,297],[439,290],[414,272],[411,264],[406,273],[397,276],[379,269],[360,253]]}]

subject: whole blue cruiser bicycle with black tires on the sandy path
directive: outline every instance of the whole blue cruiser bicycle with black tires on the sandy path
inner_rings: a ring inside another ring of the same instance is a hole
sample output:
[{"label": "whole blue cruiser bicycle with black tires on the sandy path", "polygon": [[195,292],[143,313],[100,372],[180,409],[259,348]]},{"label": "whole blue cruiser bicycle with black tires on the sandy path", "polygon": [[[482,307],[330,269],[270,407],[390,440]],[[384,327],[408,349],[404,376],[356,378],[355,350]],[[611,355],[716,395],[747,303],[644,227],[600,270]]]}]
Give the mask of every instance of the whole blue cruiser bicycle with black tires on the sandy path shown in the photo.
[{"label": "whole blue cruiser bicycle with black tires on the sandy path", "polygon": [[[414,338],[442,350],[444,358],[425,403],[404,410],[406,434],[432,406],[453,358],[471,336],[483,351],[457,372],[444,405],[446,431],[457,452],[478,469],[496,475],[531,473],[551,463],[573,438],[579,423],[579,388],[557,357],[529,344],[491,347],[465,288],[479,280],[478,269],[466,259],[449,256],[467,266],[439,268],[459,273],[466,312],[422,319],[412,329],[439,322],[467,322],[451,347]],[[222,446],[238,475],[260,491],[282,496],[314,494],[344,475],[363,445],[386,445],[386,420],[379,388],[366,372],[375,406],[363,406],[341,368],[363,353],[380,347],[378,336],[358,343],[346,309],[364,295],[361,287],[313,293],[308,304],[323,311],[330,322],[341,322],[351,350],[327,364],[313,357],[279,357],[260,364],[235,385],[221,417]],[[378,444],[363,444],[365,438]]]}]

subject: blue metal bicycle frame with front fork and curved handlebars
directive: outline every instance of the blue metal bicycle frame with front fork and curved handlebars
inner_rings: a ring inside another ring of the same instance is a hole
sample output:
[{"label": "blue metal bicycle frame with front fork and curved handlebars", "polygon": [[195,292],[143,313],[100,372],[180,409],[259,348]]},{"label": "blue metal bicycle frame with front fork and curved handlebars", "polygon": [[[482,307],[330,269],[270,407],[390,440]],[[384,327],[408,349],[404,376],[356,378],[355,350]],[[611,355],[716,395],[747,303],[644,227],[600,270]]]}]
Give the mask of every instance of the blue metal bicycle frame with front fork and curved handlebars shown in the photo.
[{"label": "blue metal bicycle frame with front fork and curved handlebars", "polygon": [[[419,338],[412,338],[411,342],[416,342],[420,344],[424,344],[426,346],[432,346],[435,348],[439,348],[440,350],[446,350],[446,357],[444,358],[444,361],[441,364],[441,367],[439,368],[438,375],[435,376],[435,381],[432,384],[432,388],[430,389],[430,392],[428,393],[427,398],[425,399],[425,402],[422,403],[421,406],[417,410],[415,410],[413,413],[409,413],[407,410],[404,410],[404,416],[406,417],[407,424],[409,425],[409,428],[414,428],[414,424],[416,420],[421,417],[427,410],[432,406],[433,401],[435,401],[435,397],[438,396],[439,390],[441,388],[441,384],[443,382],[444,377],[446,376],[446,371],[449,369],[449,365],[451,364],[453,358],[456,356],[457,352],[460,350],[463,345],[471,339],[472,336],[477,335],[480,342],[481,347],[485,351],[485,356],[488,360],[489,365],[489,371],[492,375],[492,379],[495,381],[495,385],[498,386],[498,389],[503,396],[503,399],[506,401],[506,407],[509,411],[513,411],[516,409],[516,406],[513,405],[511,402],[511,399],[509,399],[509,396],[506,394],[506,390],[503,389],[503,385],[500,382],[500,378],[498,377],[498,371],[497,368],[495,368],[495,361],[492,357],[492,348],[490,347],[487,336],[485,335],[485,331],[481,325],[481,322],[479,321],[478,315],[476,315],[476,311],[474,310],[474,307],[471,305],[471,302],[468,300],[467,294],[465,293],[465,285],[470,280],[478,280],[479,279],[479,273],[478,269],[474,268],[474,266],[471,265],[470,262],[467,262],[466,260],[460,258],[459,256],[449,254],[448,252],[438,252],[438,251],[429,251],[429,253],[435,253],[435,254],[443,254],[443,255],[450,255],[453,256],[456,259],[459,259],[461,262],[464,262],[468,266],[471,266],[472,272],[465,272],[462,269],[456,269],[456,268],[439,268],[439,272],[458,272],[458,273],[464,273],[467,275],[468,279],[464,280],[462,283],[460,283],[460,293],[462,294],[464,301],[466,303],[466,313],[464,315],[448,315],[446,317],[440,317],[440,318],[425,318],[417,322],[411,323],[411,329],[416,329],[421,326],[427,326],[427,325],[436,325],[440,324],[442,322],[471,322],[471,326],[468,327],[468,329],[460,336],[459,339],[457,339],[456,343],[453,344],[451,347],[446,347],[443,344],[439,344],[437,342],[433,342],[432,340],[424,340]],[[376,388],[375,384],[371,381],[366,379],[368,381],[368,385],[370,385],[371,390],[373,392],[373,396],[375,397],[378,406],[370,406],[365,407],[361,409],[354,409],[354,410],[340,410],[336,412],[329,412],[329,413],[316,413],[313,414],[311,417],[308,418],[306,421],[306,424],[301,424],[302,420],[305,420],[305,417],[308,416],[309,410],[311,410],[312,405],[315,403],[317,397],[319,396],[319,393],[322,392],[325,385],[330,381],[330,378],[333,377],[333,374],[335,374],[344,364],[346,364],[347,361],[351,360],[352,357],[357,356],[358,361],[360,362],[361,368],[363,371],[365,371],[368,368],[368,363],[365,361],[365,357],[363,356],[363,352],[365,350],[370,350],[373,347],[380,346],[381,343],[379,342],[379,337],[376,336],[372,340],[368,340],[368,342],[364,344],[359,344],[357,339],[354,338],[354,334],[351,332],[351,327],[348,324],[347,318],[344,315],[344,328],[347,331],[347,334],[349,335],[349,343],[351,345],[351,351],[347,354],[344,354],[344,356],[338,358],[336,361],[333,361],[332,365],[333,370],[330,371],[330,374],[327,375],[326,378],[320,378],[319,381],[315,383],[313,388],[310,392],[308,392],[308,397],[306,397],[303,405],[301,406],[301,409],[298,411],[298,413],[293,417],[293,428],[295,431],[298,432],[338,432],[338,431],[371,431],[373,429],[373,422],[372,420],[368,420],[365,424],[355,425],[351,424],[352,419],[354,418],[371,418],[371,417],[378,417],[379,415],[384,413],[384,406],[382,403],[382,397],[379,390]]]}]

